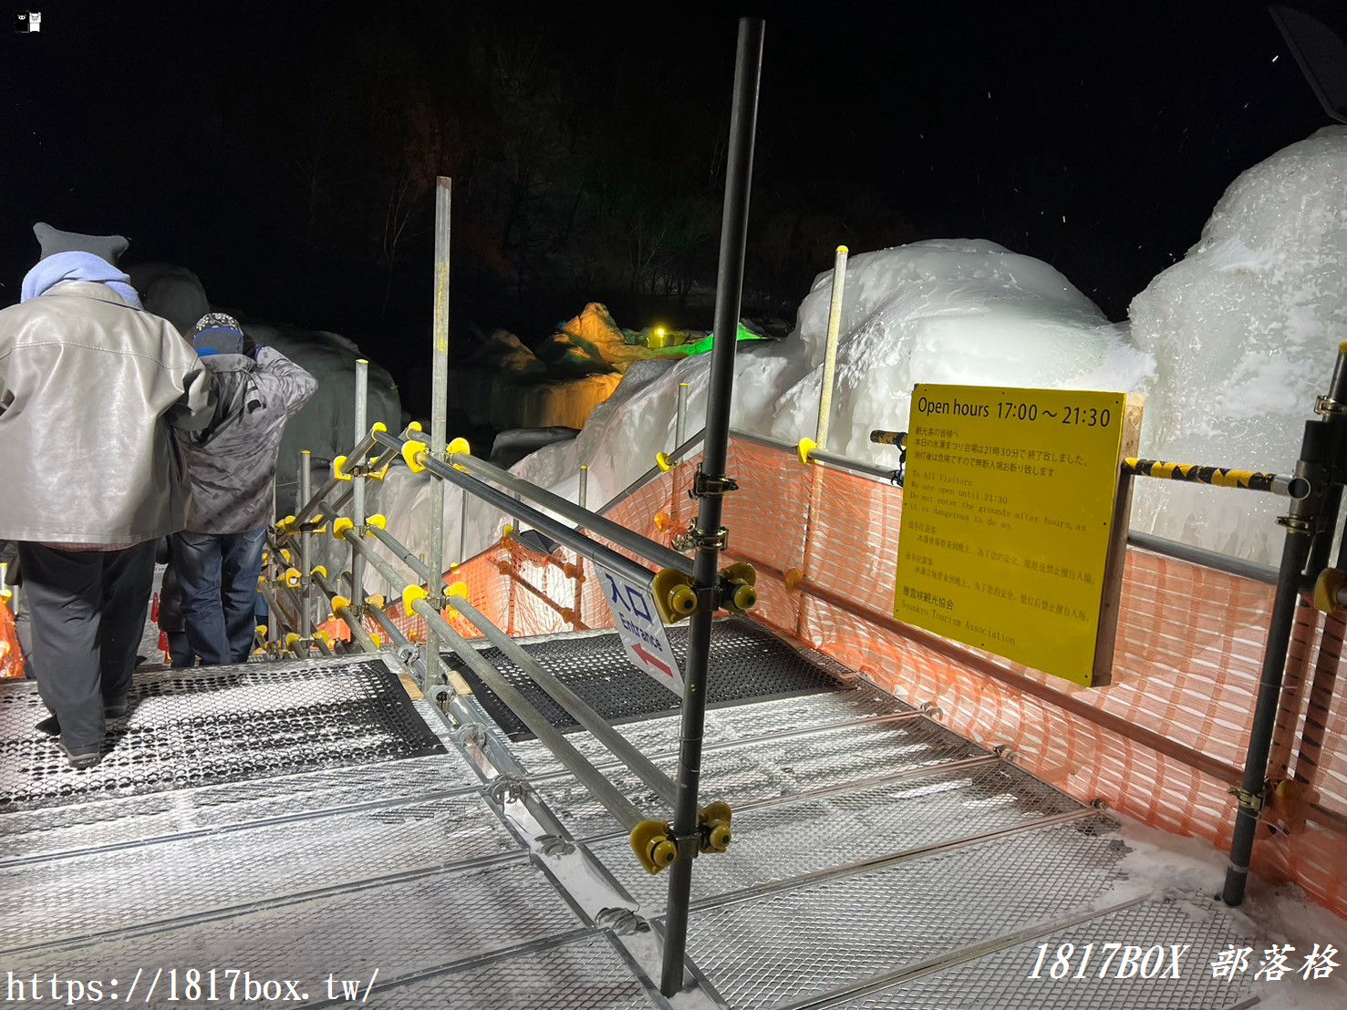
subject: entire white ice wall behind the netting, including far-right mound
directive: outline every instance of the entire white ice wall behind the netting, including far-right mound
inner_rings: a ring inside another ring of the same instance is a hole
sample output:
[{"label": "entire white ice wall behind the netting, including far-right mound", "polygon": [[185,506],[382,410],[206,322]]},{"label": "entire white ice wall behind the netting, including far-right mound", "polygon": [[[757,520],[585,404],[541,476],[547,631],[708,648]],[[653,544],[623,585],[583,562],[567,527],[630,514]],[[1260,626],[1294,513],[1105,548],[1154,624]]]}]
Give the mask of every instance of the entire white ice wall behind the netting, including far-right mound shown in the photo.
[{"label": "entire white ice wall behind the netting, including far-right mound", "polygon": [[[892,462],[892,450],[872,446],[867,434],[907,426],[919,381],[1092,388],[1146,393],[1146,455],[1288,470],[1301,422],[1347,338],[1343,193],[1344,127],[1250,168],[1188,256],[1136,298],[1130,327],[1110,325],[1047,264],[993,242],[925,241],[854,256],[828,448]],[[783,442],[814,432],[830,288],[831,273],[815,280],[785,341],[741,345],[735,426]],[[672,446],[682,381],[691,384],[695,431],[707,368],[706,357],[634,362],[578,439],[535,452],[516,473],[574,496],[585,462],[590,502],[606,501]],[[1274,563],[1282,532],[1272,517],[1282,505],[1142,481],[1133,527]],[[451,509],[455,529],[458,505]],[[469,517],[471,553],[502,520],[471,508]]]}]

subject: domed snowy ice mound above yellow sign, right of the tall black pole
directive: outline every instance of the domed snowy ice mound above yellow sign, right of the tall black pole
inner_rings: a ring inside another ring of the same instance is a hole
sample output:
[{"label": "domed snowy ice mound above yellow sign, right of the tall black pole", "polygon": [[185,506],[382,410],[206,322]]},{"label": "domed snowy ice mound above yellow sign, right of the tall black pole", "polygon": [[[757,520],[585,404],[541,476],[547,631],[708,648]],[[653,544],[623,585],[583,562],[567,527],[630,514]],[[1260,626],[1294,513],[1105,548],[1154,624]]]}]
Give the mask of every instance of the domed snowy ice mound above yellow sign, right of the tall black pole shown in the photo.
[{"label": "domed snowy ice mound above yellow sign, right of the tall black pole", "polygon": [[[792,361],[768,360],[745,374],[746,386],[785,380],[775,403],[749,408],[745,427],[769,420],[770,434],[785,442],[812,434],[831,284],[831,271],[820,275],[800,304],[796,333],[785,345]],[[792,346],[796,341],[800,346]],[[1152,368],[1125,327],[1109,323],[1041,260],[983,240],[862,253],[846,269],[827,447],[892,461],[892,450],[873,446],[869,434],[908,427],[915,382],[1131,392]],[[770,377],[772,369],[777,376]]]}]

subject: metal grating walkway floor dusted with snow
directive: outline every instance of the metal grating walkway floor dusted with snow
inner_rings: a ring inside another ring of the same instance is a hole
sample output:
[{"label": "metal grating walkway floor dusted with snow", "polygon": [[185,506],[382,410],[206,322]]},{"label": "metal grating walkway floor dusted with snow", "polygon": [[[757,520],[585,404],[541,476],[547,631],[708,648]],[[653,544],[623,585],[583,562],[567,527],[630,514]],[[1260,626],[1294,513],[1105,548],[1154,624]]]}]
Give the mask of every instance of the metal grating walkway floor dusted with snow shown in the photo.
[{"label": "metal grating walkway floor dusted with snow", "polygon": [[[678,1006],[1233,1010],[1257,995],[1200,962],[1241,937],[1238,921],[1206,896],[1138,890],[1107,813],[935,714],[835,679],[816,653],[726,632],[753,642],[757,685],[801,669],[819,683],[789,698],[749,689],[707,714],[703,796],[734,805],[735,840],[698,861],[688,968],[700,994]],[[616,642],[532,646],[556,668]],[[119,978],[125,999],[144,970],[125,1001],[137,1006],[183,1005],[164,990],[144,999],[156,970],[233,967],[302,983],[307,1006],[350,1002],[327,990],[333,975],[374,979],[370,1007],[668,1010],[652,982],[665,878],[638,870],[583,786],[537,741],[509,739],[488,699],[450,696],[442,719],[405,695],[405,672],[388,657],[141,679],[147,733],[117,749],[162,768],[147,742],[159,726],[182,750],[201,745],[199,774],[0,811],[0,972]],[[632,669],[593,683],[636,699],[653,685]],[[175,707],[156,710],[162,699]],[[170,718],[187,707],[201,718]],[[280,718],[291,708],[314,725],[296,731]],[[621,731],[672,768],[678,720],[661,711]],[[31,688],[0,689],[0,726],[31,716]],[[589,734],[570,739],[660,813]],[[15,795],[47,781],[8,762],[4,774]],[[1188,943],[1199,957],[1180,979],[1028,978],[1040,944],[1100,940]]]}]

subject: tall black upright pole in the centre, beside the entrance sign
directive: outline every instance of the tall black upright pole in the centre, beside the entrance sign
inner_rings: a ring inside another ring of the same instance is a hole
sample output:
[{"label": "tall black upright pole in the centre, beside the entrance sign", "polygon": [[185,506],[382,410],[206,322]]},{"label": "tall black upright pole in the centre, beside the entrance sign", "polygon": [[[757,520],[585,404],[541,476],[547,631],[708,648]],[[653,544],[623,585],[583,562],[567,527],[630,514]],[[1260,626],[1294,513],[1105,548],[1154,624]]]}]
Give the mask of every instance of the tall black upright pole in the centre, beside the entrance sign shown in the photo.
[{"label": "tall black upright pole in the centre, beside the entrance sign", "polygon": [[[740,20],[734,61],[734,101],[721,218],[721,265],[715,287],[715,345],[706,400],[702,471],[711,479],[725,475],[730,442],[730,400],[734,392],[734,338],[744,294],[744,246],[749,225],[749,184],[753,174],[753,135],[757,127],[758,78],[762,70],[762,19]],[[664,931],[664,967],[660,991],[672,997],[683,987],[683,953],[692,886],[692,859],[699,851],[696,792],[702,777],[702,733],[706,725],[706,681],[711,653],[711,618],[718,605],[722,501],[700,498],[699,541],[694,566],[698,611],[688,629],[683,725],[679,738],[678,803],[674,835],[679,855],[669,867],[668,917]]]}]

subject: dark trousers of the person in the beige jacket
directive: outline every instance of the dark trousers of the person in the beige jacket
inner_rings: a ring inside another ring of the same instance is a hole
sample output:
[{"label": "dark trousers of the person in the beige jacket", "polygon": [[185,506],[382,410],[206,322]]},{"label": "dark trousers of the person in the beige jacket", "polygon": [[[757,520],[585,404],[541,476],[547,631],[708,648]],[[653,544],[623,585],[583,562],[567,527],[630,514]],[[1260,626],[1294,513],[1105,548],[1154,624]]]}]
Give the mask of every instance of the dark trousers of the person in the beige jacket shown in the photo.
[{"label": "dark trousers of the person in the beige jacket", "polygon": [[102,741],[102,707],[131,689],[155,578],[155,541],[123,551],[19,544],[38,691],[67,747]]}]

